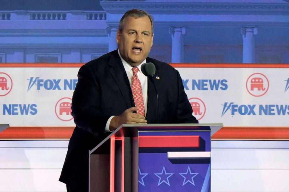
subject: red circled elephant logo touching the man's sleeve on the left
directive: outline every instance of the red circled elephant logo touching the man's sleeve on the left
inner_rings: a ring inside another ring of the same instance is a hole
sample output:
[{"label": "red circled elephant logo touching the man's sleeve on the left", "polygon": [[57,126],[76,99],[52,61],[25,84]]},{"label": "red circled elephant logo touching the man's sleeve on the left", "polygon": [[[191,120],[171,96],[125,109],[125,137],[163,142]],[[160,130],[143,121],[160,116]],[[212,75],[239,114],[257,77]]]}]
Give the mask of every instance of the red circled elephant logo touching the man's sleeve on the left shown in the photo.
[{"label": "red circled elephant logo touching the man's sleeve on the left", "polygon": [[73,119],[71,116],[71,102],[71,98],[64,97],[55,104],[55,115],[61,121],[70,121]]}]

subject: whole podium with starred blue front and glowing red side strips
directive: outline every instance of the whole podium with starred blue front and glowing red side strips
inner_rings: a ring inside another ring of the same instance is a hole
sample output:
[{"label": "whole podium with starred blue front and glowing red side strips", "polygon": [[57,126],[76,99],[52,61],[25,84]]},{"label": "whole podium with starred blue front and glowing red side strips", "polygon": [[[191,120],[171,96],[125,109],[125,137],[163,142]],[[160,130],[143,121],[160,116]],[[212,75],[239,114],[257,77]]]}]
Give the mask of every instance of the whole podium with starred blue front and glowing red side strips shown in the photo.
[{"label": "whole podium with starred blue front and glowing red side strips", "polygon": [[210,191],[222,124],[123,124],[89,152],[90,192]]}]

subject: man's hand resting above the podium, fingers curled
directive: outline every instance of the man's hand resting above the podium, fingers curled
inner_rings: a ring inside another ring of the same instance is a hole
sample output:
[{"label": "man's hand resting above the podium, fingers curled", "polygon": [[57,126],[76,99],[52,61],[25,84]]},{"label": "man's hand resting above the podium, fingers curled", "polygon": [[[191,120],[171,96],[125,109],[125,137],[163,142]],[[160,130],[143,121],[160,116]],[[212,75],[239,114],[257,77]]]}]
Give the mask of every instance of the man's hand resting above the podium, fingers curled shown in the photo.
[{"label": "man's hand resting above the podium, fingers curled", "polygon": [[147,123],[144,116],[133,113],[137,110],[138,107],[131,107],[121,115],[113,117],[109,124],[110,131],[116,130],[121,124]]}]

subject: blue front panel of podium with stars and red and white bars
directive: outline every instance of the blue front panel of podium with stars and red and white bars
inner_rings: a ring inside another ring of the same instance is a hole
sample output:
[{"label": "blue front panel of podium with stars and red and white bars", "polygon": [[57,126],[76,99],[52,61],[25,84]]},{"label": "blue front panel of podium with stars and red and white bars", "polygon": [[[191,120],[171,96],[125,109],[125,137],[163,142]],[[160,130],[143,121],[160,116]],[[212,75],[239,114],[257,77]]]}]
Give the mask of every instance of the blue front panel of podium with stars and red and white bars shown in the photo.
[{"label": "blue front panel of podium with stars and red and white bars", "polygon": [[[170,143],[169,137],[180,140]],[[210,131],[140,131],[138,191],[210,191],[210,137]],[[146,145],[142,138],[152,143]]]}]

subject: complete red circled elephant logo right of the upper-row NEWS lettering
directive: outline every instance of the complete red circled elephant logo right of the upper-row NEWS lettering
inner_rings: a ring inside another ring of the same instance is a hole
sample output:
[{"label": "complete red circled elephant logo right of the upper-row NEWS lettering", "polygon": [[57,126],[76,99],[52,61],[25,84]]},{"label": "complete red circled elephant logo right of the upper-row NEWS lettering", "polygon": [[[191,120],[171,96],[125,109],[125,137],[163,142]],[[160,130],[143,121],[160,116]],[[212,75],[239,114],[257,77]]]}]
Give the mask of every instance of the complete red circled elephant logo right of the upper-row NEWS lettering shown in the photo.
[{"label": "complete red circled elephant logo right of the upper-row NEWS lettering", "polygon": [[253,73],[247,79],[246,88],[250,95],[260,97],[268,91],[269,80],[262,73]]}]

